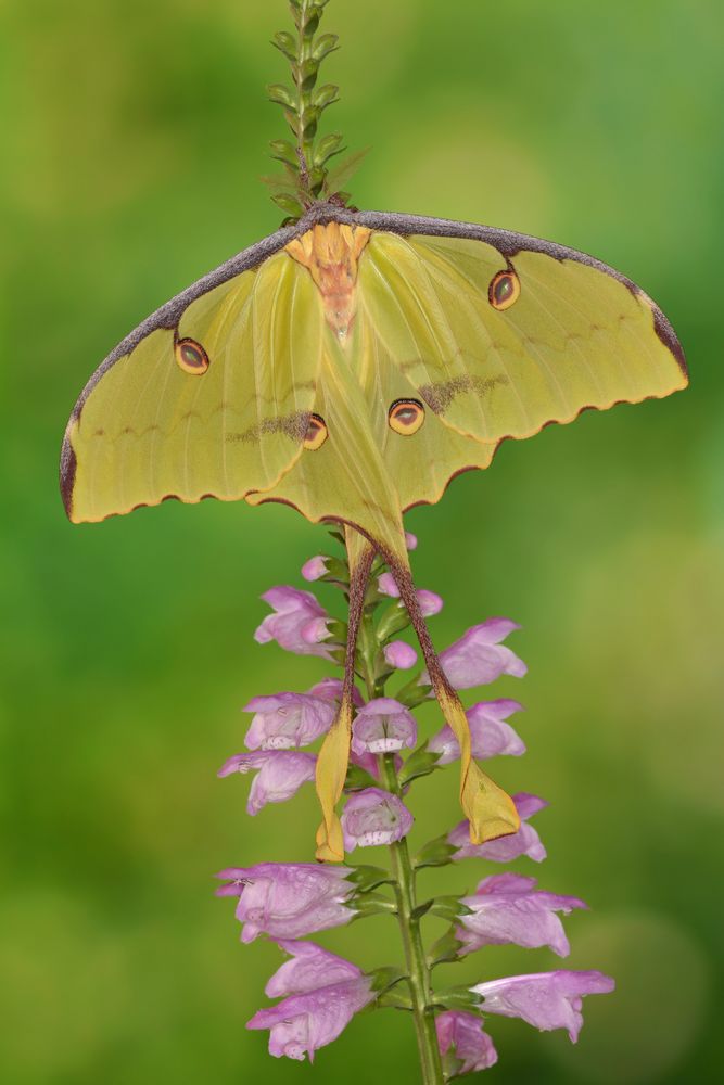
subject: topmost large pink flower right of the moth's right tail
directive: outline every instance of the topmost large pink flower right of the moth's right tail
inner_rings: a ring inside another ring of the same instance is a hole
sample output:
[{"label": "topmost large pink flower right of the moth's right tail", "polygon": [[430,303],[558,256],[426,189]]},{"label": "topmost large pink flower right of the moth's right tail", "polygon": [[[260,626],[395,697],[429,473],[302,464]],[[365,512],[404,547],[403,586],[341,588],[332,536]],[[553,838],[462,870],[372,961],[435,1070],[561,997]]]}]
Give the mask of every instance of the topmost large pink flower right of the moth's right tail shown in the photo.
[{"label": "topmost large pink flower right of the moth's right tail", "polygon": [[[486,686],[503,674],[522,678],[528,667],[500,643],[513,629],[520,626],[505,617],[492,617],[482,625],[473,625],[441,652],[440,662],[450,684],[456,689],[472,689],[473,686]],[[427,672],[421,680],[430,684]]]}]

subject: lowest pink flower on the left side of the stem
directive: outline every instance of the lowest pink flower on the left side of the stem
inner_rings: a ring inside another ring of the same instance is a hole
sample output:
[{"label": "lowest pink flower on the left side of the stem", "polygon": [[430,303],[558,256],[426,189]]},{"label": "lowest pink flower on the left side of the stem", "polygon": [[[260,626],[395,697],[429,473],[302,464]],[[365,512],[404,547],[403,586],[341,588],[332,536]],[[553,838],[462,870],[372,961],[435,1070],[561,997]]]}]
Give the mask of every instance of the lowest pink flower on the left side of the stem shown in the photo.
[{"label": "lowest pink flower on the left side of the stem", "polygon": [[255,1013],[246,1027],[269,1030],[269,1055],[275,1058],[303,1060],[308,1055],[312,1062],[315,1051],[336,1039],[373,998],[371,979],[361,975],[284,998]]}]

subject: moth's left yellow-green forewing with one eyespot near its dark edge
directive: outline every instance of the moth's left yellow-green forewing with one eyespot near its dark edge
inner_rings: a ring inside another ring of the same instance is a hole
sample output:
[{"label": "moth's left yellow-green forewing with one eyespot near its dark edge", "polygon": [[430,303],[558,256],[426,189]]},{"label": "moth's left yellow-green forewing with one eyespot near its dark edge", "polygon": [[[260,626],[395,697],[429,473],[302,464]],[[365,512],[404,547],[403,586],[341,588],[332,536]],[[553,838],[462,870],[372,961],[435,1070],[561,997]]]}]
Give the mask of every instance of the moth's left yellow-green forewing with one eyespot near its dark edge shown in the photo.
[{"label": "moth's left yellow-green forewing with one eyespot near its dark edge", "polygon": [[303,451],[323,330],[318,291],[280,252],[101,367],[63,445],[71,520],[274,486]]}]

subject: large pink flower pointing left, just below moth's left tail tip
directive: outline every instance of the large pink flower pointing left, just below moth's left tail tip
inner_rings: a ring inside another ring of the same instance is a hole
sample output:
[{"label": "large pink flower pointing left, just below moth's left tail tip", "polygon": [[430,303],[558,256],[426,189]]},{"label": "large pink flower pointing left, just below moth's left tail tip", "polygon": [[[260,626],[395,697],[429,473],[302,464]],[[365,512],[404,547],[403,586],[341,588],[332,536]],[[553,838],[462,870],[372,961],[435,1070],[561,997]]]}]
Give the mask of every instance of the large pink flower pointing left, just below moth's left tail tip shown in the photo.
[{"label": "large pink flower pointing left, just below moth's left tail tip", "polygon": [[354,911],[344,904],[354,886],[348,867],[314,863],[257,863],[231,867],[218,877],[227,884],[219,896],[238,896],[237,919],[243,923],[242,942],[258,934],[272,939],[301,939],[315,931],[348,923]]}]

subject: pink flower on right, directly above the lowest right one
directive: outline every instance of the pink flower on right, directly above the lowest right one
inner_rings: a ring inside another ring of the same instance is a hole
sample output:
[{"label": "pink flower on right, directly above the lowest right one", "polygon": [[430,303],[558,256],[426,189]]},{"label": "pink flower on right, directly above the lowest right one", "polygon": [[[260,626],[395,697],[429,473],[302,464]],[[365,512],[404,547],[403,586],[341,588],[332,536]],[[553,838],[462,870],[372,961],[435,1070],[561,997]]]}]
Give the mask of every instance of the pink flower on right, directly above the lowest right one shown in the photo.
[{"label": "pink flower on right, directly above the lowest right one", "polygon": [[472,915],[461,917],[456,932],[463,954],[512,943],[531,949],[548,946],[559,957],[568,957],[571,947],[556,912],[568,915],[586,907],[574,896],[537,891],[535,878],[511,873],[484,878],[462,903],[472,909]]}]

